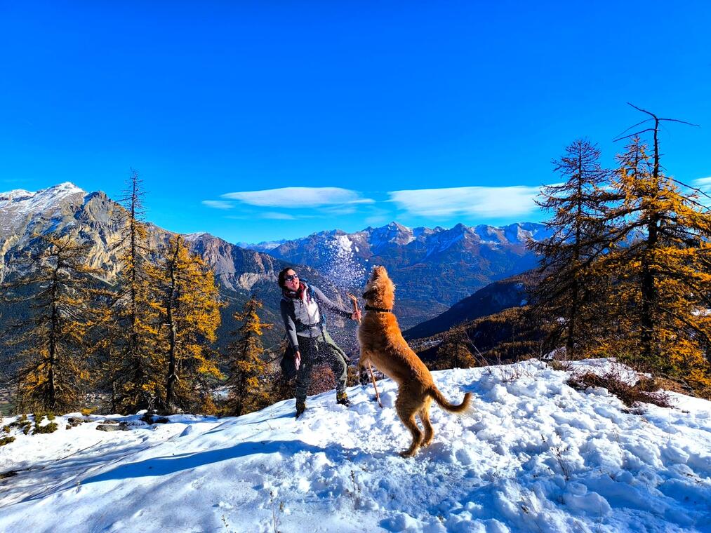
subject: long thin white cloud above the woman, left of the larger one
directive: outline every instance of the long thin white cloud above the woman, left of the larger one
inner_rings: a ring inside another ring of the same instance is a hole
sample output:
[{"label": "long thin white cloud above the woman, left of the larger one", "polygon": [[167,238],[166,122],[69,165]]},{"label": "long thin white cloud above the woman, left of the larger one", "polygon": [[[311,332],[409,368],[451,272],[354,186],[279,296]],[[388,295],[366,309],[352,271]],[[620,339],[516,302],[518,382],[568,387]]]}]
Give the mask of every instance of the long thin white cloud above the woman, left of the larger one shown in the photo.
[{"label": "long thin white cloud above the woman, left of the larger one", "polygon": [[222,198],[240,200],[266,208],[318,208],[324,205],[373,203],[358,191],[338,187],[284,187],[268,190],[246,190],[226,193]]}]

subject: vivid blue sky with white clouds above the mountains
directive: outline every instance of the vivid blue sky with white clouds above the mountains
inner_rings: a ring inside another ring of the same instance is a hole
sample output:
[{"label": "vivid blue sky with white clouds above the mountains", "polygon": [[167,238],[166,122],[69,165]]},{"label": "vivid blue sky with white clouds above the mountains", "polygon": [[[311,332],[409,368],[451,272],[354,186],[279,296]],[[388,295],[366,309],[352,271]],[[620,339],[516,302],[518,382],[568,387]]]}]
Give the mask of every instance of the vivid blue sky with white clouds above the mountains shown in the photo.
[{"label": "vivid blue sky with white clouds above the mountains", "polygon": [[711,3],[574,4],[0,0],[0,190],[133,167],[149,220],[232,242],[540,220],[628,101],[701,124],[663,161],[711,177]]}]

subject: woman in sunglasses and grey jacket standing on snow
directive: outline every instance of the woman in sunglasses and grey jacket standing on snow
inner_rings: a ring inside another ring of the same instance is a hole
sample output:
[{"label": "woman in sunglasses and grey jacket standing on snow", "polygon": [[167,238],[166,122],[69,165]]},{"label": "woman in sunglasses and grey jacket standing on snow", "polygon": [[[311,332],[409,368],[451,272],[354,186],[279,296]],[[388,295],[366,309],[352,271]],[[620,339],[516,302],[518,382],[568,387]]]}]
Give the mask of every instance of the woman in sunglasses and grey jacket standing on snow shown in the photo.
[{"label": "woman in sunglasses and grey jacket standing on snow", "polygon": [[329,300],[319,289],[301,281],[292,268],[279,272],[279,286],[282,288],[282,320],[287,328],[297,370],[296,418],[306,409],[306,391],[309,389],[316,357],[328,362],[336,376],[336,402],[350,405],[346,396],[348,357],[328,335],[321,305],[354,321],[360,320],[360,311],[354,313]]}]

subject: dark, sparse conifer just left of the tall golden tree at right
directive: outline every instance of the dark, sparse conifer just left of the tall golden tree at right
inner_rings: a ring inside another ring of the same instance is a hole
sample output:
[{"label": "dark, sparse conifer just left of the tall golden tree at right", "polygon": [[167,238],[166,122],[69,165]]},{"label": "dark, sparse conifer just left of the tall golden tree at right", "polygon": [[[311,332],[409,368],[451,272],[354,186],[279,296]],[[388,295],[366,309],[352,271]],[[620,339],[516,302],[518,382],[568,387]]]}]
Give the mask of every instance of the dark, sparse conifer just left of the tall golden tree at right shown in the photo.
[{"label": "dark, sparse conifer just left of the tall golden tree at right", "polygon": [[539,321],[556,324],[549,348],[565,343],[570,358],[584,350],[590,325],[600,323],[594,302],[604,277],[597,276],[591,265],[609,246],[605,217],[613,197],[604,190],[609,171],[600,166],[599,158],[596,145],[578,139],[553,161],[565,181],[543,187],[537,201],[552,212],[545,222],[552,237],[529,243],[541,257],[541,281],[533,291],[531,313]]}]

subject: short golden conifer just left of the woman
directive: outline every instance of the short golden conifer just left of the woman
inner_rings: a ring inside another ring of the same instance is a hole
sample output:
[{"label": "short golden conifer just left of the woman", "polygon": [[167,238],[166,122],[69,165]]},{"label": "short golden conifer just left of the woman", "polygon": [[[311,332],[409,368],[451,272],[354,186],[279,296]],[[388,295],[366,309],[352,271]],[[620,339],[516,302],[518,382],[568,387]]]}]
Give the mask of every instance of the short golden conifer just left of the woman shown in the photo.
[{"label": "short golden conifer just left of the woman", "polygon": [[262,302],[255,296],[245,303],[243,311],[235,313],[235,321],[240,328],[232,333],[237,339],[228,345],[227,356],[230,364],[228,386],[228,412],[240,416],[269,405],[269,384],[260,378],[267,375],[267,361],[264,360],[262,333],[272,324],[264,324],[257,311]]}]

